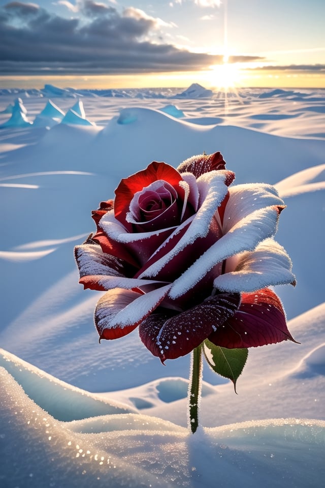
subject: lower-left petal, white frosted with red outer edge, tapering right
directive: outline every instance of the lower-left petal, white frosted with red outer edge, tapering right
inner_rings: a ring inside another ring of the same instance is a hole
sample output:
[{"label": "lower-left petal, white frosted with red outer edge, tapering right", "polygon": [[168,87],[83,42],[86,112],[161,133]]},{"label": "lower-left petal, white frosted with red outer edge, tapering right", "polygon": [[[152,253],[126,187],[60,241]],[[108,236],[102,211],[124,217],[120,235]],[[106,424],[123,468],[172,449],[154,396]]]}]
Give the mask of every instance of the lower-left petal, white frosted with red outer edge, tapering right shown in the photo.
[{"label": "lower-left petal, white frosted with red outer edge, tapering right", "polygon": [[[170,287],[171,285],[163,286],[144,294],[119,288],[105,293],[95,309],[95,325],[100,338],[115,339],[116,333],[121,334],[124,330],[133,330],[159,306]],[[111,337],[112,334],[113,337]],[[125,334],[122,333],[122,335]]]}]

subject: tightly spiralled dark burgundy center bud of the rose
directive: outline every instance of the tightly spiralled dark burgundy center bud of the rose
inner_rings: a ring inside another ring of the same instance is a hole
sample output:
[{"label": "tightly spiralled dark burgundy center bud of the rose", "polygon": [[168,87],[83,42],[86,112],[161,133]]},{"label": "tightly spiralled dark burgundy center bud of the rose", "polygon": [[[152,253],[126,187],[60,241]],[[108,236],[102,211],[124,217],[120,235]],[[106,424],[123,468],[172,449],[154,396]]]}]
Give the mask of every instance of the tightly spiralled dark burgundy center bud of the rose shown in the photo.
[{"label": "tightly spiralled dark burgundy center bud of the rose", "polygon": [[135,193],[129,209],[136,224],[150,224],[143,230],[159,230],[180,223],[177,192],[164,180],[154,181]]}]

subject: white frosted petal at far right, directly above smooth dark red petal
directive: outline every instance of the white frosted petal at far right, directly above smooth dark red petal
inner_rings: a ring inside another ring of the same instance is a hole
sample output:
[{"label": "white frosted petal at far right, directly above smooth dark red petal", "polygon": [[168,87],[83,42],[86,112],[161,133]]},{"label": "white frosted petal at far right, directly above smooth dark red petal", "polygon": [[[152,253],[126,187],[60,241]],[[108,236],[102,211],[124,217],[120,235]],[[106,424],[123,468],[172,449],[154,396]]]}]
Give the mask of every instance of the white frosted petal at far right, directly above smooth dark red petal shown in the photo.
[{"label": "white frosted petal at far right, directly above smooth dark red petal", "polygon": [[254,291],[267,286],[296,285],[291,273],[292,262],[282,246],[274,239],[265,239],[253,252],[243,253],[234,271],[214,280],[218,290],[228,292]]}]

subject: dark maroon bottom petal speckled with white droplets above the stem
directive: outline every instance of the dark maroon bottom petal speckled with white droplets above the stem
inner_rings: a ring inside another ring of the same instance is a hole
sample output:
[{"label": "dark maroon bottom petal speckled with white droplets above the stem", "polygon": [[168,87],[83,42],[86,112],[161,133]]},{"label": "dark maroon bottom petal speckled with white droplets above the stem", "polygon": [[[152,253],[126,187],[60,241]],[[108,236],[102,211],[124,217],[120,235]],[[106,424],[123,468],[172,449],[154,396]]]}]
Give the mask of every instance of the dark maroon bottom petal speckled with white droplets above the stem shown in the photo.
[{"label": "dark maroon bottom petal speckled with white droplets above the stem", "polygon": [[235,314],[239,293],[222,293],[168,318],[152,314],[139,325],[140,339],[161,362],[185,356]]}]

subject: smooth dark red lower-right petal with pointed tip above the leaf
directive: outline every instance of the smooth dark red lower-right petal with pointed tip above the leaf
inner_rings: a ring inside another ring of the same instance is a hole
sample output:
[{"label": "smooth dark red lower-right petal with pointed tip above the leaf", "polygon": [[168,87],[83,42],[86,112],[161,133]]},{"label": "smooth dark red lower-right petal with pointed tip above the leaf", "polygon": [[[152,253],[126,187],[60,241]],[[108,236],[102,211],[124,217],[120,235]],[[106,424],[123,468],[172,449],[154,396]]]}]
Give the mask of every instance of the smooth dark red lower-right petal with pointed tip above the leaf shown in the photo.
[{"label": "smooth dark red lower-right petal with pointed tip above the leaf", "polygon": [[228,349],[294,341],[286,326],[278,296],[269,288],[243,293],[239,310],[209,336],[216,346]]}]

